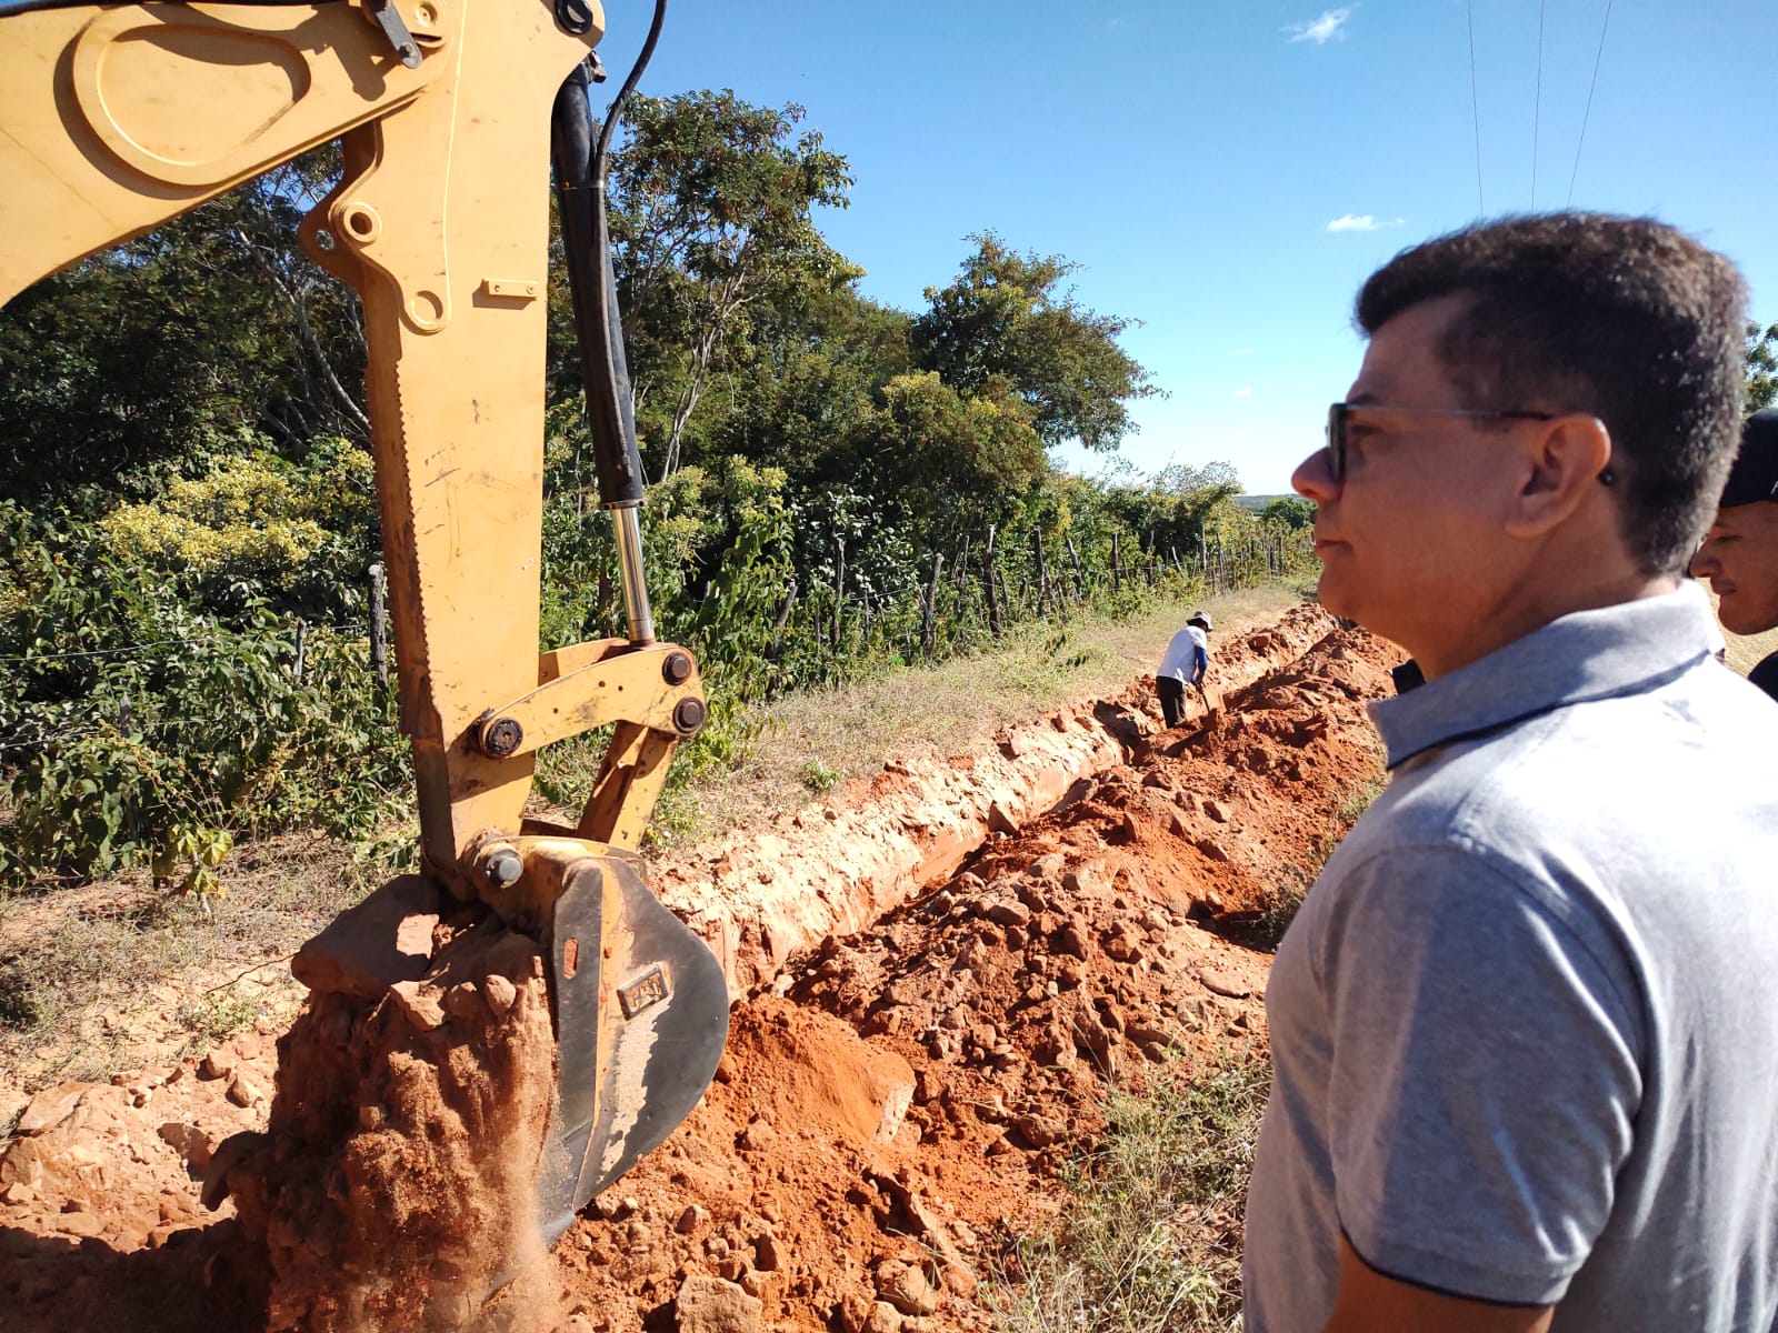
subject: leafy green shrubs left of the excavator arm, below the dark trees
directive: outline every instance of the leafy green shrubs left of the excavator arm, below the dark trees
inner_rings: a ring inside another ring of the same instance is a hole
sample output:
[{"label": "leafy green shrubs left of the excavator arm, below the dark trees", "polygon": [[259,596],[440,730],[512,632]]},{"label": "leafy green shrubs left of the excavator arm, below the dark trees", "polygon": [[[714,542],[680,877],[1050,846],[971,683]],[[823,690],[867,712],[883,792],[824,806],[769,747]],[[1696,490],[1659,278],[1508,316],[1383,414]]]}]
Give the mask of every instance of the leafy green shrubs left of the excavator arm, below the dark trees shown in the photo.
[{"label": "leafy green shrubs left of the excavator arm, below the dark trees", "polygon": [[251,599],[233,624],[119,560],[108,537],[0,526],[0,885],[151,862],[199,894],[235,835],[370,832],[407,791],[366,640]]}]

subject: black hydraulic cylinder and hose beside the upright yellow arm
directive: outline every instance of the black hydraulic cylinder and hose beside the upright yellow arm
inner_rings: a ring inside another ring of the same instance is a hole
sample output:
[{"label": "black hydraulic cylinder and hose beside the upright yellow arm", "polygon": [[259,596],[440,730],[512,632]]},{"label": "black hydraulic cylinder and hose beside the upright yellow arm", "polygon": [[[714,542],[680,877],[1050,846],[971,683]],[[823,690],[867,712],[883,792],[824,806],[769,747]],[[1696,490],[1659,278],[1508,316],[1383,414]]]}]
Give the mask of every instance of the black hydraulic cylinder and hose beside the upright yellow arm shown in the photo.
[{"label": "black hydraulic cylinder and hose beside the upright yellow arm", "polygon": [[549,156],[555,167],[557,204],[562,213],[562,249],[567,256],[574,331],[580,338],[581,379],[587,386],[587,427],[592,460],[599,473],[599,503],[633,508],[642,503],[642,455],[637,450],[637,418],[631,405],[629,366],[624,359],[624,322],[617,307],[617,275],[612,268],[612,236],[605,208],[605,158],[612,128],[642,78],[660,37],[667,0],[656,0],[654,23],[605,119],[597,146],[592,139],[592,107],[587,100],[589,73],[580,64],[557,89],[551,114]]}]

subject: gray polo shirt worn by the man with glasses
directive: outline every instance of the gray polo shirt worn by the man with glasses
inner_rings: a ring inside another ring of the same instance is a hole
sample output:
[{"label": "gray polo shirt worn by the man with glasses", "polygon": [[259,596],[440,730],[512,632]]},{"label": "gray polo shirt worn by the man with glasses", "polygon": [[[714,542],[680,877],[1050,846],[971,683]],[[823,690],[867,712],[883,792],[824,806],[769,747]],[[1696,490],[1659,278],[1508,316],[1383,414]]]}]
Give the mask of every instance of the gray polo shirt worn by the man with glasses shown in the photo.
[{"label": "gray polo shirt worn by the man with glasses", "polygon": [[1696,588],[1373,704],[1394,771],[1266,990],[1248,1333],[1321,1333],[1339,1235],[1556,1329],[1778,1312],[1778,709]]}]

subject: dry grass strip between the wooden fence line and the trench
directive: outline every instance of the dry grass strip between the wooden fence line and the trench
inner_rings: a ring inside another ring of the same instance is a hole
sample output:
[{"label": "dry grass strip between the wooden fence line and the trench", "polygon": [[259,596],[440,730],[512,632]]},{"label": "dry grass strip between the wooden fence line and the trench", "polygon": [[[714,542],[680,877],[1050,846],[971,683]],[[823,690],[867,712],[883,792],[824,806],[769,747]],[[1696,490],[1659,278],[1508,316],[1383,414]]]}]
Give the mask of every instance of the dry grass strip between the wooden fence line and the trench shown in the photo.
[{"label": "dry grass strip between the wooden fence line and the trench", "polygon": [[715,839],[795,812],[836,782],[875,777],[887,759],[973,754],[1008,723],[1117,693],[1154,670],[1193,606],[1214,617],[1214,640],[1269,624],[1300,601],[1289,587],[1266,585],[1129,620],[1077,615],[1026,626],[994,654],[782,698],[763,709],[759,741],[740,766],[676,798],[672,841]]}]

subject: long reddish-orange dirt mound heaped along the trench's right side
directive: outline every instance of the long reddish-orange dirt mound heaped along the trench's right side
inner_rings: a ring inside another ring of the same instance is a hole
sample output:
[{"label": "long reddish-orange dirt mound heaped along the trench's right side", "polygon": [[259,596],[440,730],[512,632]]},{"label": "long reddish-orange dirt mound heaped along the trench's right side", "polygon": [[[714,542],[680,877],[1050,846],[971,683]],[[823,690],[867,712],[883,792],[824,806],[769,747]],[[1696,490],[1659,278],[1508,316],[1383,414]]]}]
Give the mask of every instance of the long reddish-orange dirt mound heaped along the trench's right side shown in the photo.
[{"label": "long reddish-orange dirt mound heaped along the trench's right side", "polygon": [[[1269,954],[1229,935],[1301,887],[1380,773],[1364,700],[1394,656],[1334,635],[791,956],[736,1004],[704,1104],[558,1246],[571,1326],[683,1328],[677,1294],[706,1276],[759,1301],[745,1328],[983,1326],[996,1241],[1054,1210],[1108,1081],[1262,1049]],[[873,1084],[841,1072],[889,1056],[914,1095],[885,1139]]]}]

